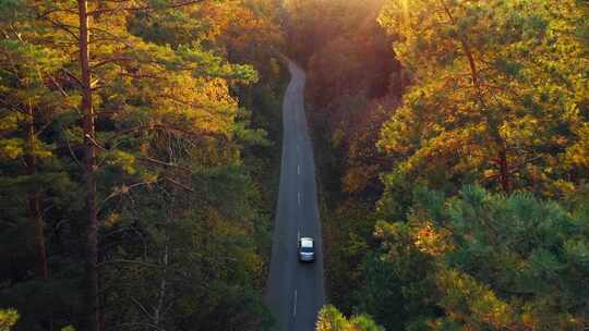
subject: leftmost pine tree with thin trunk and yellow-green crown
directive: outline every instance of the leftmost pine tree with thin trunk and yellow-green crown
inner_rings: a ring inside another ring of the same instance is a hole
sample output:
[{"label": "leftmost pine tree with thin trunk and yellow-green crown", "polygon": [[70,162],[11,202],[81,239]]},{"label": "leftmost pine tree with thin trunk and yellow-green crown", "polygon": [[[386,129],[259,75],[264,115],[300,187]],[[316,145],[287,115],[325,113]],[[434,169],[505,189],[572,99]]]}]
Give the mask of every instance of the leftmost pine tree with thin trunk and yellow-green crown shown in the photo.
[{"label": "leftmost pine tree with thin trunk and yellow-green crown", "polygon": [[[47,255],[45,249],[45,221],[43,209],[46,208],[44,191],[56,173],[40,171],[44,162],[51,162],[55,146],[47,137],[51,121],[56,115],[72,106],[72,100],[60,93],[59,69],[63,64],[61,53],[45,45],[36,45],[43,37],[43,30],[29,29],[22,34],[19,28],[26,24],[21,14],[19,2],[5,3],[0,9],[1,29],[4,38],[0,41],[3,71],[0,83],[0,158],[19,168],[2,173],[7,187],[22,188],[27,196],[27,213],[34,229],[36,246],[37,275],[48,278]],[[61,90],[62,91],[62,90]],[[22,160],[24,167],[19,167]],[[21,170],[23,169],[23,170]],[[17,180],[14,177],[17,176]],[[57,186],[57,185],[56,185]],[[12,192],[14,194],[14,191]]]}]

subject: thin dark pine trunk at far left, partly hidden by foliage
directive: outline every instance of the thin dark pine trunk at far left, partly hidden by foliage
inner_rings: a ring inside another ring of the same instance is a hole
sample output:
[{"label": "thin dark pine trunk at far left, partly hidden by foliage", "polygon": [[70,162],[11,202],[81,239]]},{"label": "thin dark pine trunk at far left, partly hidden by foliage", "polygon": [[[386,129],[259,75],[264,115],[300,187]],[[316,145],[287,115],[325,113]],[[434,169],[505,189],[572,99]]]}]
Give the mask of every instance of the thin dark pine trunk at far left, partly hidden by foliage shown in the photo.
[{"label": "thin dark pine trunk at far left, partly hidden by foliage", "polygon": [[[33,106],[28,105],[27,109],[28,120],[26,122],[26,140],[28,145],[28,154],[24,156],[26,163],[26,172],[29,176],[33,176],[37,173],[37,159],[35,157],[35,118],[33,113]],[[48,268],[47,268],[47,253],[45,249],[45,234],[44,234],[44,222],[43,213],[40,209],[40,193],[37,187],[28,188],[27,193],[28,199],[28,212],[31,216],[31,221],[33,223],[33,229],[35,231],[35,250],[37,254],[37,272],[38,275],[46,280],[48,278]]]}]

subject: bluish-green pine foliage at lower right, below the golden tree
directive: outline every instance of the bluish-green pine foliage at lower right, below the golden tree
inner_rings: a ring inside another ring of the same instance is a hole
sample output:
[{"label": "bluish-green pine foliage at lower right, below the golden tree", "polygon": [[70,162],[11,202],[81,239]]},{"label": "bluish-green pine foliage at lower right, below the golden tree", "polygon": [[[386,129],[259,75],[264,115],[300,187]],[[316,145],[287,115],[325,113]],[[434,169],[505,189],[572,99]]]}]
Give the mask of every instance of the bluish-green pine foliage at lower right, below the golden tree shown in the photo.
[{"label": "bluish-green pine foliage at lower right, below the golden tree", "polygon": [[408,330],[423,323],[434,330],[584,326],[589,274],[576,256],[589,241],[586,217],[529,193],[494,195],[478,186],[445,200],[423,189],[413,197],[407,223],[382,223],[376,232],[396,277],[381,284],[402,286],[406,311],[424,304],[409,310]]}]

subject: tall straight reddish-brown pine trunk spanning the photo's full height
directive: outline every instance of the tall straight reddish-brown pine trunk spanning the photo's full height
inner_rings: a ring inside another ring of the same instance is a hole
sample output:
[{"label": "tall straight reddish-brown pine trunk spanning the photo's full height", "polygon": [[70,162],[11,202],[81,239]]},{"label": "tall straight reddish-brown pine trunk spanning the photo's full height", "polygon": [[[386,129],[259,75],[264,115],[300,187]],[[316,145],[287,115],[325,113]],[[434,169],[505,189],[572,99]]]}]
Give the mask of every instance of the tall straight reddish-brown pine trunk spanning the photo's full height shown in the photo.
[{"label": "tall straight reddish-brown pine trunk spanning the photo's full height", "polygon": [[95,179],[95,128],[94,109],[92,105],[91,68],[89,68],[89,33],[88,33],[88,3],[86,0],[77,0],[80,16],[80,69],[82,72],[82,105],[84,113],[84,145],[85,145],[85,171],[86,181],[86,309],[87,330],[99,331],[99,304],[98,304],[98,218],[96,214],[96,179]]}]

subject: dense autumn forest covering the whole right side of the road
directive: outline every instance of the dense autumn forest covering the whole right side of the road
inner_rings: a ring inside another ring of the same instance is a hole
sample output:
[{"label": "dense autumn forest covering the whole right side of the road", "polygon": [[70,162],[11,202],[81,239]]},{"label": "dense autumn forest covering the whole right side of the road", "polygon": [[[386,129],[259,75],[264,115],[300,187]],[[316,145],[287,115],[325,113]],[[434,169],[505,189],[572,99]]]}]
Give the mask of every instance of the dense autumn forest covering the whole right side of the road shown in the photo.
[{"label": "dense autumn forest covering the whole right side of the road", "polygon": [[305,3],[317,329],[586,329],[587,2]]}]

